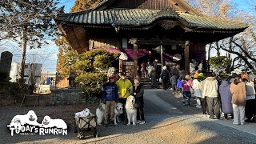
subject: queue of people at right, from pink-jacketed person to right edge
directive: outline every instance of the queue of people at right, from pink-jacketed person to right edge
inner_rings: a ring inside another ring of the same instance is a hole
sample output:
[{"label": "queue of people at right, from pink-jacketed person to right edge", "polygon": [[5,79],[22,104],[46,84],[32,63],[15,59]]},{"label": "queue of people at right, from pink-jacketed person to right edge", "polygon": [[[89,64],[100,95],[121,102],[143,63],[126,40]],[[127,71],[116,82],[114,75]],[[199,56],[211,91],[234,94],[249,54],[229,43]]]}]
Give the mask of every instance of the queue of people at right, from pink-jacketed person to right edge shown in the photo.
[{"label": "queue of people at right, from pink-jacketed person to right edge", "polygon": [[192,90],[197,101],[196,107],[202,108],[202,114],[208,114],[209,118],[220,119],[223,113],[224,118],[228,119],[230,115],[234,119],[234,125],[255,122],[255,78],[252,81],[246,72],[242,72],[236,78],[226,76],[219,81],[212,73],[205,75],[206,78],[197,71],[193,80],[190,75],[186,75],[185,80],[182,80],[183,106],[190,106]]}]

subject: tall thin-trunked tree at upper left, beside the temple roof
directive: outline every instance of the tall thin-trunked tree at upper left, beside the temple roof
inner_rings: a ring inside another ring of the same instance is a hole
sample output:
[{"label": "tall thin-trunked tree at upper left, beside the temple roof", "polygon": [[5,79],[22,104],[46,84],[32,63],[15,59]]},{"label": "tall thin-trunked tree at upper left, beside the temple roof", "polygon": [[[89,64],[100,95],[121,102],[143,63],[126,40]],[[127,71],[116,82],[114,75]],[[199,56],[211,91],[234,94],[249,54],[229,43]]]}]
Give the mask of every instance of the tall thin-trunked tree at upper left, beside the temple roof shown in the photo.
[{"label": "tall thin-trunked tree at upper left, beside the temple roof", "polygon": [[[40,48],[46,39],[54,38],[57,27],[53,18],[63,12],[54,0],[9,0],[0,3],[1,38],[12,38],[22,48],[20,83],[24,84],[26,47]],[[1,39],[0,39],[1,40]]]}]

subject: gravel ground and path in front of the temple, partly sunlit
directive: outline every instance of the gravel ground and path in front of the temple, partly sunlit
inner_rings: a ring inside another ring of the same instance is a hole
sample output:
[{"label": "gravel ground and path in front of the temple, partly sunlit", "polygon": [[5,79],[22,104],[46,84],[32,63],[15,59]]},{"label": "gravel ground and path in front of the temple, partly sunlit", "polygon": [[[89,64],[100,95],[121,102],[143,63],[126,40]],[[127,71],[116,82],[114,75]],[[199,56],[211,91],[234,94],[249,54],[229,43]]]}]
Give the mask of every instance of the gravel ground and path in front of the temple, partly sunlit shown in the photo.
[{"label": "gravel ground and path in front of the temple, partly sunlit", "polygon": [[[99,137],[88,136],[83,140],[77,138],[72,125],[74,113],[84,106],[40,106],[35,109],[1,106],[0,143],[256,143],[256,123],[233,126],[231,120],[211,120],[194,107],[180,107],[180,96],[171,96],[170,90],[146,90],[145,101],[144,125],[126,126],[119,123],[118,126],[107,128],[97,126]],[[87,107],[92,113],[95,112],[95,106]],[[35,111],[38,122],[42,122],[44,115],[63,119],[70,126],[68,135],[15,134],[11,137],[6,125],[14,115],[26,114],[28,110]]]}]

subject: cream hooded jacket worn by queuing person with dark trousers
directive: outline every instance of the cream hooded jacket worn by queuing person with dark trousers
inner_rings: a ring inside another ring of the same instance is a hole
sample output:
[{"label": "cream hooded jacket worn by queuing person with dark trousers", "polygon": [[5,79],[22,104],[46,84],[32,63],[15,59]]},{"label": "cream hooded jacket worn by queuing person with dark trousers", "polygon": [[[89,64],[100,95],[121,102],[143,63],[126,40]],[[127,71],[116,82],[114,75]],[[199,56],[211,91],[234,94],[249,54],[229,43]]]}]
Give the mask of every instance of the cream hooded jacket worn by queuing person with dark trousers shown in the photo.
[{"label": "cream hooded jacket worn by queuing person with dark trousers", "polygon": [[218,82],[215,77],[207,77],[202,82],[202,98],[205,97],[218,97]]}]

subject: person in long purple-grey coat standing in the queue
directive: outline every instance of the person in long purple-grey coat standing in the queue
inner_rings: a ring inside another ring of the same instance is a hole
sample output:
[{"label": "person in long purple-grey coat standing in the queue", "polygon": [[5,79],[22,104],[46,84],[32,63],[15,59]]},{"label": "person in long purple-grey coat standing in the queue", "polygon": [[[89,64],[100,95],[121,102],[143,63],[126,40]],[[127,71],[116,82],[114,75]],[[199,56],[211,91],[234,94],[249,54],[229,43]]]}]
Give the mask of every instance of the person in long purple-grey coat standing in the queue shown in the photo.
[{"label": "person in long purple-grey coat standing in the queue", "polygon": [[230,82],[225,80],[222,81],[221,85],[219,86],[219,94],[222,99],[222,112],[224,113],[224,118],[227,119],[227,114],[231,114],[233,118],[233,108],[232,108],[232,94],[230,92]]}]

